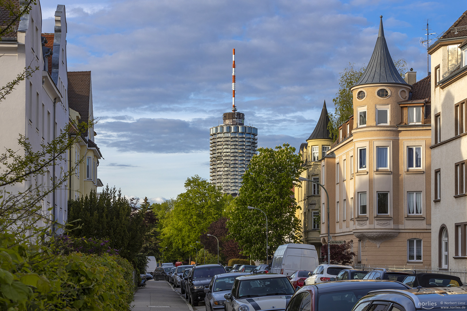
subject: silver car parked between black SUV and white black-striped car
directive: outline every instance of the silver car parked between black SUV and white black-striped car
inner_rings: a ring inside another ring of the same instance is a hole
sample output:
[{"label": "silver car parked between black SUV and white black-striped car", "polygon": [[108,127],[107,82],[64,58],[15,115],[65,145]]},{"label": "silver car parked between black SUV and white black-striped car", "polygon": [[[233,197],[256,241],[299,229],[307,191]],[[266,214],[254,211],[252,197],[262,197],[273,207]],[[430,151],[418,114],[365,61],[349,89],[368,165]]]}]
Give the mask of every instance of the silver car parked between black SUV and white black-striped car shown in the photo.
[{"label": "silver car parked between black SUV and white black-striped car", "polygon": [[224,273],[214,276],[209,283],[209,288],[205,288],[206,311],[223,310],[226,298],[224,295],[232,291],[233,282],[238,276],[250,275],[248,272]]}]

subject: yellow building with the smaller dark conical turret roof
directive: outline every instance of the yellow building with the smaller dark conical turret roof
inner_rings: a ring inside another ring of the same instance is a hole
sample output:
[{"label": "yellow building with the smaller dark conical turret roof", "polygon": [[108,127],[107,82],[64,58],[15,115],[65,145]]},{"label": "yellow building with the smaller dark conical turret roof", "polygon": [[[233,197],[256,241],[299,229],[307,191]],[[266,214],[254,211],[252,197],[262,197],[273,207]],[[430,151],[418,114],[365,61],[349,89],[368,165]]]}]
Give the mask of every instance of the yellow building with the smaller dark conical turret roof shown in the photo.
[{"label": "yellow building with the smaller dark conical turret roof", "polygon": [[[333,139],[327,128],[329,115],[326,102],[323,104],[321,115],[310,137],[300,146],[299,154],[302,157],[304,171],[301,176],[320,183],[321,159],[331,147]],[[310,181],[302,181],[294,188],[295,200],[301,209],[297,209],[296,216],[302,223],[302,241],[314,245],[320,253],[321,240],[321,188]]]}]

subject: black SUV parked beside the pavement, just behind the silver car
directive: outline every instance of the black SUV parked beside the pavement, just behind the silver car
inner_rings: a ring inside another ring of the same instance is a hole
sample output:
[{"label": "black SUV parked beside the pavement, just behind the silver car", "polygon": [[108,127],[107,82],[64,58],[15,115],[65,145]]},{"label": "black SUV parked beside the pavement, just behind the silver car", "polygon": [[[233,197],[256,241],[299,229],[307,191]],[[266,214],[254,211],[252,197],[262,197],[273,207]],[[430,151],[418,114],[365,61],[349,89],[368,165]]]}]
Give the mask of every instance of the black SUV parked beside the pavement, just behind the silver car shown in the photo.
[{"label": "black SUV parked beside the pavement, just behind the silver car", "polygon": [[185,282],[185,298],[193,306],[197,306],[200,301],[204,301],[205,288],[209,288],[209,283],[213,276],[226,273],[220,264],[203,264],[194,266]]}]

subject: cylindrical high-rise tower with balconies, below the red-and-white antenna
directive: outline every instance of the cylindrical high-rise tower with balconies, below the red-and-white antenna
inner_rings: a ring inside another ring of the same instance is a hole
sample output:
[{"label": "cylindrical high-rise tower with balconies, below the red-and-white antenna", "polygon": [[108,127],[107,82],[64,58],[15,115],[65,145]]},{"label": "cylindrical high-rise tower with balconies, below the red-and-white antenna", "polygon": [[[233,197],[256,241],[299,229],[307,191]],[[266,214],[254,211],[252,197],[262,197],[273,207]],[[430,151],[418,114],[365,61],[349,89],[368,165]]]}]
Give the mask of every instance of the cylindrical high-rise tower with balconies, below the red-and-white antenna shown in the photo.
[{"label": "cylindrical high-rise tower with balconies, below the red-and-white antenna", "polygon": [[238,195],[243,174],[256,154],[258,129],[244,125],[245,115],[227,112],[224,124],[214,126],[210,134],[210,179],[222,192]]}]

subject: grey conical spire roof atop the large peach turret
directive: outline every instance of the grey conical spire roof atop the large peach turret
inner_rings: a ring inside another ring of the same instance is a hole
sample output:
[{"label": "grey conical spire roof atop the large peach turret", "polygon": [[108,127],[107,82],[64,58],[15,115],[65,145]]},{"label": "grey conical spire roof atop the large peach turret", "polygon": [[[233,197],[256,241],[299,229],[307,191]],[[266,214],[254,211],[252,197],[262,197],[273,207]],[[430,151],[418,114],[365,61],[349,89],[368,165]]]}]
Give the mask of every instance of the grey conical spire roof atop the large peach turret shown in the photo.
[{"label": "grey conical spire roof atop the large peach turret", "polygon": [[354,86],[372,83],[397,83],[409,85],[404,81],[401,75],[399,75],[396,66],[394,66],[394,62],[392,62],[388,44],[384,38],[382,15],[380,15],[380,19],[378,39],[376,39],[373,55],[371,55],[365,72]]}]

